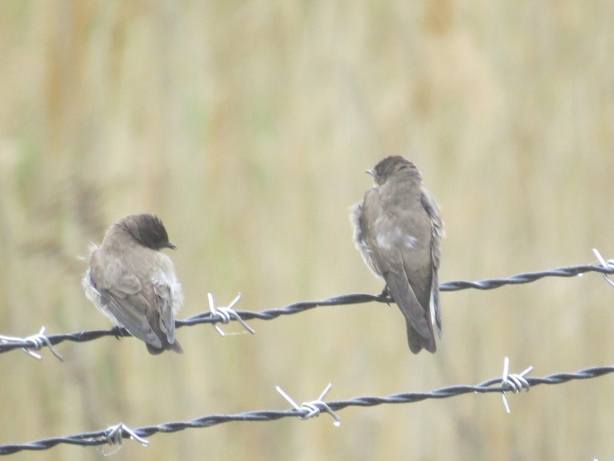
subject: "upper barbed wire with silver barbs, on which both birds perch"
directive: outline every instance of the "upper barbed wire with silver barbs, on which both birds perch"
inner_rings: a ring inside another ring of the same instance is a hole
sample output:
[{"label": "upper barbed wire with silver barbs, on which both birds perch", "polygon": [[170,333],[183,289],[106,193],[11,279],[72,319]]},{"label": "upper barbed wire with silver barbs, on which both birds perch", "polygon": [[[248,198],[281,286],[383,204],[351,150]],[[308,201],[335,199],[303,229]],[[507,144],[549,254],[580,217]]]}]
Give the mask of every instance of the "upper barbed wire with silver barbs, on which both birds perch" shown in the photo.
[{"label": "upper barbed wire with silver barbs, on which both birds perch", "polygon": [[[614,260],[610,259],[609,261],[605,261],[597,252],[593,250],[597,256],[597,259],[600,261],[600,266],[596,264],[585,264],[580,266],[569,266],[569,267],[560,267],[558,269],[550,269],[543,270],[541,272],[525,272],[523,274],[512,275],[507,278],[491,278],[487,280],[480,280],[477,282],[471,282],[468,280],[455,280],[452,282],[445,282],[439,285],[440,291],[459,291],[459,290],[467,290],[473,288],[475,290],[494,290],[495,288],[499,288],[503,285],[520,285],[523,283],[531,283],[537,280],[540,280],[544,277],[575,277],[576,275],[583,275],[588,272],[597,272],[599,274],[604,275],[604,278],[608,283],[612,284],[612,280],[607,278],[607,275],[614,274]],[[175,326],[176,328],[181,328],[183,326],[194,326],[200,325],[202,323],[211,323],[215,325],[216,323],[228,323],[228,321],[236,321],[239,320],[244,325],[244,321],[246,320],[274,320],[275,318],[281,317],[282,315],[293,315],[295,313],[305,312],[306,310],[314,309],[316,307],[324,307],[324,306],[338,306],[338,305],[348,305],[348,304],[365,304],[367,302],[380,302],[390,304],[392,299],[390,297],[384,296],[383,294],[373,295],[373,294],[342,294],[340,296],[333,296],[328,299],[322,299],[320,301],[299,301],[293,302],[292,304],[286,305],[285,307],[281,307],[279,309],[268,309],[262,310],[260,312],[252,312],[250,310],[233,310],[231,307],[238,302],[241,295],[235,298],[229,307],[220,307],[216,308],[211,307],[210,312],[202,312],[192,317],[186,318],[185,320],[176,320]],[[210,305],[212,299],[209,300]],[[225,311],[225,312],[224,312]],[[244,325],[246,326],[246,325]],[[249,327],[247,327],[249,328]],[[26,352],[28,350],[34,349],[39,350],[41,347],[53,346],[56,344],[60,344],[63,341],[71,341],[71,342],[87,342],[94,341],[95,339],[99,339],[101,337],[106,336],[115,336],[117,339],[120,337],[132,336],[126,329],[121,328],[119,326],[115,326],[106,330],[91,330],[91,331],[80,331],[77,333],[68,333],[68,334],[53,334],[50,336],[43,336],[39,333],[38,335],[29,336],[27,338],[18,338],[18,337],[9,337],[9,336],[0,336],[0,353],[9,352],[10,350],[15,349],[23,349]],[[9,338],[9,339],[6,339]],[[21,340],[21,341],[20,341]],[[55,351],[52,352],[58,357]],[[36,355],[34,356],[36,357]],[[61,357],[61,356],[60,356]],[[40,358],[38,356],[37,358]],[[58,357],[59,358],[59,357]]]}]

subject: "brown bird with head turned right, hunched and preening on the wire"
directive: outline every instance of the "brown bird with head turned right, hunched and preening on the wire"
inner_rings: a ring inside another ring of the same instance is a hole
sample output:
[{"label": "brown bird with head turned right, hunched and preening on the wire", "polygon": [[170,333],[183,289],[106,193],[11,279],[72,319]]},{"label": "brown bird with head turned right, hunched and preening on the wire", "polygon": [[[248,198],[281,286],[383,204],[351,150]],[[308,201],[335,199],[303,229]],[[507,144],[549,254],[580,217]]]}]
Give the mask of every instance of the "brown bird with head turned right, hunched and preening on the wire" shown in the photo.
[{"label": "brown bird with head turned right, hunched and preening on the wire", "polygon": [[160,218],[126,216],[107,230],[100,246],[93,245],[82,280],[85,296],[98,310],[144,341],[152,355],[184,352],[175,339],[174,319],[184,295],[162,248],[176,246]]}]

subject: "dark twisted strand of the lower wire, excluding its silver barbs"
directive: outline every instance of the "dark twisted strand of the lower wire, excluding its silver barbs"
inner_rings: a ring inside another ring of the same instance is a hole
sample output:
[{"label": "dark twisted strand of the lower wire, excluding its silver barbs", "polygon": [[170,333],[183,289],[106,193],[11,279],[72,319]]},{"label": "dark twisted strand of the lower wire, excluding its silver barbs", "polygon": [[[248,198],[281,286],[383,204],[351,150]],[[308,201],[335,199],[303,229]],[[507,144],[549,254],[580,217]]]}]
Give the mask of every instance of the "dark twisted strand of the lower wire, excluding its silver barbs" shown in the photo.
[{"label": "dark twisted strand of the lower wire, excluding its silver barbs", "polygon": [[[545,377],[526,377],[530,386],[540,384],[562,384],[571,380],[591,379],[614,372],[614,366],[597,366],[585,368],[575,373],[555,373]],[[432,392],[406,392],[390,395],[387,397],[363,396],[351,400],[335,400],[325,402],[332,411],[338,411],[349,406],[376,406],[392,403],[414,403],[428,399],[450,398],[467,393],[489,393],[489,392],[508,392],[512,388],[510,385],[502,385],[501,378],[496,377],[486,380],[477,385],[454,385],[443,387]],[[318,404],[316,404],[318,406]],[[321,404],[319,406],[322,406]],[[321,410],[324,408],[321,408]],[[286,409],[286,410],[260,410],[236,414],[211,414],[202,416],[185,422],[167,422],[165,424],[146,426],[133,429],[131,432],[139,438],[147,438],[156,433],[172,433],[188,428],[206,428],[226,422],[249,422],[249,421],[274,421],[287,417],[306,417],[308,410]],[[120,428],[123,438],[130,438],[130,431]],[[46,450],[58,444],[71,444],[80,446],[97,446],[109,443],[109,430],[98,430],[78,435],[66,437],[53,437],[41,439],[24,444],[0,445],[0,455],[14,454],[25,450]]]}]

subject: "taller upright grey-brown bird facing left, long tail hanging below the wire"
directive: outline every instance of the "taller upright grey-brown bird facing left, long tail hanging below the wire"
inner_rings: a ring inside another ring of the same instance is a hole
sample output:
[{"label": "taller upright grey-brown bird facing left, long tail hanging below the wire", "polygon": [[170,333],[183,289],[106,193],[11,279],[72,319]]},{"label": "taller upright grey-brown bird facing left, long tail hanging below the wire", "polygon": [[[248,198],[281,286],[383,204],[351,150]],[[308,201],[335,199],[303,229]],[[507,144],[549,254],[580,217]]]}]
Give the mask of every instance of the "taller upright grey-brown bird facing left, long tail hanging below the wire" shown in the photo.
[{"label": "taller upright grey-brown bird facing left, long tail hanging below the wire", "polygon": [[443,223],[416,165],[386,157],[373,170],[373,187],[351,208],[354,245],[405,315],[411,352],[434,353],[433,324],[441,337],[437,271]]}]

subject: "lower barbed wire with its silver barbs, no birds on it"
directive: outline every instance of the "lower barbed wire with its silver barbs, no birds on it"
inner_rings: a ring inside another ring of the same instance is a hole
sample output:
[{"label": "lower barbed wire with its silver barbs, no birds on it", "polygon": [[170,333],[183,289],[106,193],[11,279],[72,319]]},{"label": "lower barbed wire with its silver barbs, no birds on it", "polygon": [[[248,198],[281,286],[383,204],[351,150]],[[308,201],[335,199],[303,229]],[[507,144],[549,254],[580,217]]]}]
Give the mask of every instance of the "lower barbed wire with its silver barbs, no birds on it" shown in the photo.
[{"label": "lower barbed wire with its silver barbs, no birds on it", "polygon": [[[533,387],[540,384],[563,384],[572,380],[579,379],[591,379],[605,374],[614,372],[614,366],[597,366],[592,368],[585,368],[575,373],[555,373],[545,377],[529,377],[526,376],[530,369],[525,370],[521,374],[507,374],[503,372],[502,378],[493,378],[481,382],[476,385],[453,385],[449,387],[443,387],[432,392],[406,392],[398,393],[386,397],[377,396],[363,396],[352,398],[350,400],[333,400],[324,402],[321,400],[326,392],[330,389],[328,385],[321,398],[308,403],[303,403],[301,406],[292,402],[292,409],[286,410],[259,410],[250,411],[236,414],[211,414],[202,416],[190,421],[185,422],[167,422],[165,424],[146,426],[137,429],[131,429],[125,424],[117,424],[111,426],[105,430],[91,431],[77,435],[70,435],[66,437],[53,437],[47,439],[41,439],[30,443],[23,444],[6,444],[0,445],[0,455],[14,454],[25,450],[47,450],[55,447],[58,444],[71,444],[80,446],[99,446],[104,444],[122,443],[122,438],[131,438],[138,440],[141,444],[147,446],[149,441],[145,438],[150,437],[156,433],[173,433],[188,428],[206,428],[217,424],[227,422],[251,422],[251,421],[274,421],[287,417],[298,417],[300,419],[307,419],[308,417],[318,416],[320,412],[329,412],[333,418],[336,416],[335,411],[339,411],[350,406],[370,407],[382,404],[393,403],[415,403],[429,399],[443,399],[460,396],[468,393],[491,393],[499,392],[505,395],[505,392],[519,392],[522,388],[526,390],[529,386]],[[505,401],[505,400],[504,400]],[[507,402],[506,408],[507,408]],[[508,409],[508,408],[507,408]],[[333,420],[339,425],[339,419]]]}]

